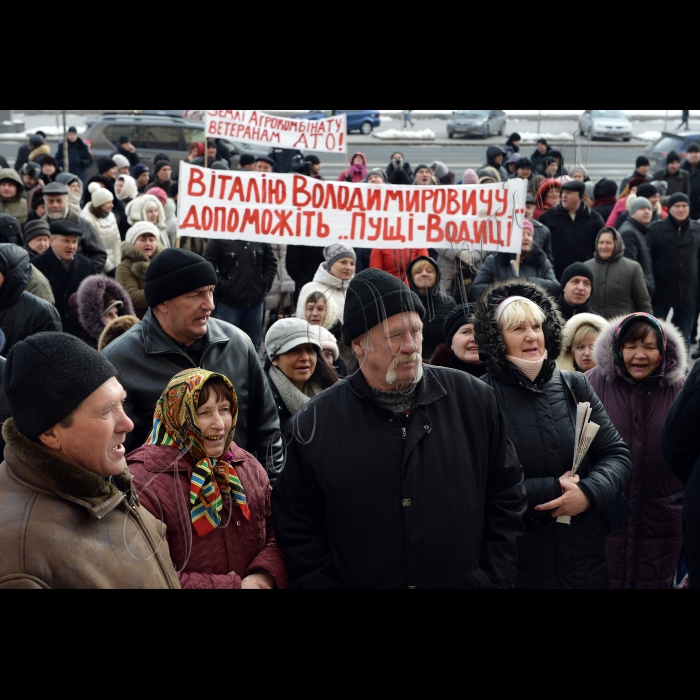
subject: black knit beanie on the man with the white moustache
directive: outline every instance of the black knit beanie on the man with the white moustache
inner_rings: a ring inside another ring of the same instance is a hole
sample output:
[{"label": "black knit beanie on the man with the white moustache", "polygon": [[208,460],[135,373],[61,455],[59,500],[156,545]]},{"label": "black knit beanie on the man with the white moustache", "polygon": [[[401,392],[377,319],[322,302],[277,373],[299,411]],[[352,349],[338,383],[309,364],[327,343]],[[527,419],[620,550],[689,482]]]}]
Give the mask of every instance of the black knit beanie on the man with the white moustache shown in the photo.
[{"label": "black knit beanie on the man with the white moustache", "polygon": [[383,270],[364,270],[350,282],[345,297],[343,340],[350,347],[353,340],[382,321],[406,311],[415,311],[421,320],[425,317],[418,295],[401,280]]}]

